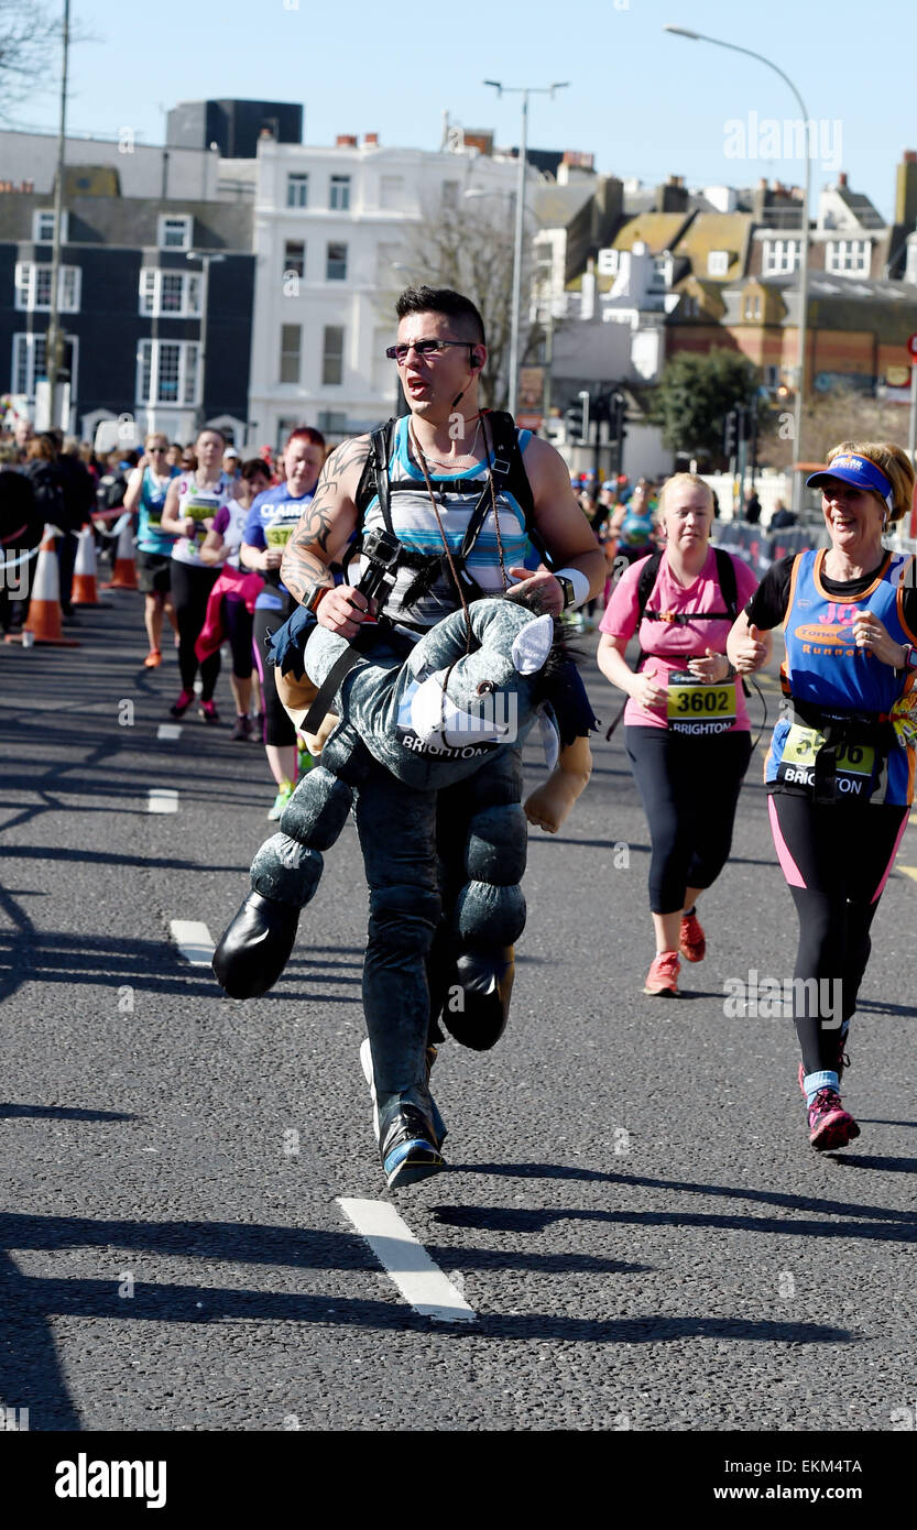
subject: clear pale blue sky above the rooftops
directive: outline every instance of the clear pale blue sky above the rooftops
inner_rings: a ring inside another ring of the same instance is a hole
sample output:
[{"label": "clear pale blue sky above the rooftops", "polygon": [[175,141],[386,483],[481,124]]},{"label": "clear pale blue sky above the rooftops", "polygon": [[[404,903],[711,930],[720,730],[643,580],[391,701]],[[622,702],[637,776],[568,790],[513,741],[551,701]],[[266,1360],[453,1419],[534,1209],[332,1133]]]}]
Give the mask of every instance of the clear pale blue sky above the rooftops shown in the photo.
[{"label": "clear pale blue sky above the rooftops", "polygon": [[[821,132],[813,207],[817,187],[847,170],[851,188],[891,217],[894,167],[917,148],[917,8],[902,0],[72,5],[95,38],[72,50],[77,132],[132,127],[162,142],[164,109],[176,101],[245,96],[303,103],[309,144],[377,132],[383,144],[438,148],[444,112],[514,144],[519,98],[498,101],[482,80],[568,80],[554,99],[533,98],[533,145],[592,151],[599,170],[648,182],[669,173],[692,185],[801,182],[799,159],[761,158],[776,150],[767,124],[782,135],[796,116],[784,83],[755,60],[666,35],[672,21],[752,47],[793,80]],[[15,122],[55,129],[54,93],[35,92]]]}]

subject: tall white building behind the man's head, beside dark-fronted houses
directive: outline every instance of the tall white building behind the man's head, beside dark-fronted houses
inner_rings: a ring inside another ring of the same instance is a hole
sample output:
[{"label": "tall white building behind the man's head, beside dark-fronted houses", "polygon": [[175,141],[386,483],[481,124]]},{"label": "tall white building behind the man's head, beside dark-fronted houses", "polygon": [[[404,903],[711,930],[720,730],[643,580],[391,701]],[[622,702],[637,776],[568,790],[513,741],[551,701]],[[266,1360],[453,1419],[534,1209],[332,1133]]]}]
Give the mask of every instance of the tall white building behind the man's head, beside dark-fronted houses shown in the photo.
[{"label": "tall white building behind the man's head, beside dark-fronted houses", "polygon": [[[423,230],[465,197],[516,188],[517,162],[465,147],[383,148],[375,135],[334,148],[259,142],[254,335],[248,445],[277,445],[297,424],[329,441],[396,410],[393,300],[421,283]],[[527,202],[540,177],[528,170]]]}]

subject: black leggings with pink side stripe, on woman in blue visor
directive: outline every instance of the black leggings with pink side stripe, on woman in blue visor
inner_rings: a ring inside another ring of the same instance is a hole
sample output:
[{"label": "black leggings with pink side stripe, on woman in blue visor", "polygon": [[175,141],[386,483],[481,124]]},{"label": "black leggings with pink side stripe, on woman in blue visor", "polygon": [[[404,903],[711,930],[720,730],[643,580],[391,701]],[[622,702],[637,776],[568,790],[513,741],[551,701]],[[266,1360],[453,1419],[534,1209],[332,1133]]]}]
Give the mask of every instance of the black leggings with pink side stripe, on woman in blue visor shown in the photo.
[{"label": "black leggings with pink side stripe, on woman in blue visor", "polygon": [[[807,1073],[836,1068],[840,1027],[856,1010],[870,959],[870,926],[908,808],[773,793],[776,852],[799,916],[793,1019]],[[811,981],[814,979],[814,981]]]}]

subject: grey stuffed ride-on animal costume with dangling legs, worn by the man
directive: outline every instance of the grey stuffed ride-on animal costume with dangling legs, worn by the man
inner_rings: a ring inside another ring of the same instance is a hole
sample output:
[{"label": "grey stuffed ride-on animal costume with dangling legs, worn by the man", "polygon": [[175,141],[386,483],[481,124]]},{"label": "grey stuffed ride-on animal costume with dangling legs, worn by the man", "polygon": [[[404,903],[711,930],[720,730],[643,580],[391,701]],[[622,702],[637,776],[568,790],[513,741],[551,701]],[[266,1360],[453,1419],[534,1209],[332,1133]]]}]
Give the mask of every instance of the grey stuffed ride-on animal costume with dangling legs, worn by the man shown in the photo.
[{"label": "grey stuffed ride-on animal costume with dangling legs, worn by the man", "polygon": [[[321,685],[346,649],[315,627],[309,678]],[[505,1025],[511,947],[525,924],[521,745],[539,713],[554,742],[543,701],[553,649],[553,618],[514,600],[475,601],[467,618],[453,612],[406,659],[380,633],[338,684],[341,724],[300,779],[280,832],[256,854],[253,892],[214,955],[233,998],[277,981],[323,852],[354,806],[369,883],[363,998],[380,1097],[416,1097],[429,1111],[424,1059],[441,1010],[476,1050]]]}]

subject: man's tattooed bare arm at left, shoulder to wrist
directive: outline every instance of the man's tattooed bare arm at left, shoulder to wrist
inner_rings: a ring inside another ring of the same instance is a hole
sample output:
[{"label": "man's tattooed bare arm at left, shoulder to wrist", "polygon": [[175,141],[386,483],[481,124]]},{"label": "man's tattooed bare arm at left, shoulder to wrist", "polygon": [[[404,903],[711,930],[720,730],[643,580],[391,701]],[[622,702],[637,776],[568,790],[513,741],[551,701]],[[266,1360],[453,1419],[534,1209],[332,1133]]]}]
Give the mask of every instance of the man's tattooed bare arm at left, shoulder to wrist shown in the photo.
[{"label": "man's tattooed bare arm at left, shoulder to wrist", "polygon": [[334,578],[328,565],[341,555],[357,526],[357,488],[369,456],[369,436],[341,442],[328,457],[315,494],[283,549],[280,578],[303,601],[312,584]]}]

